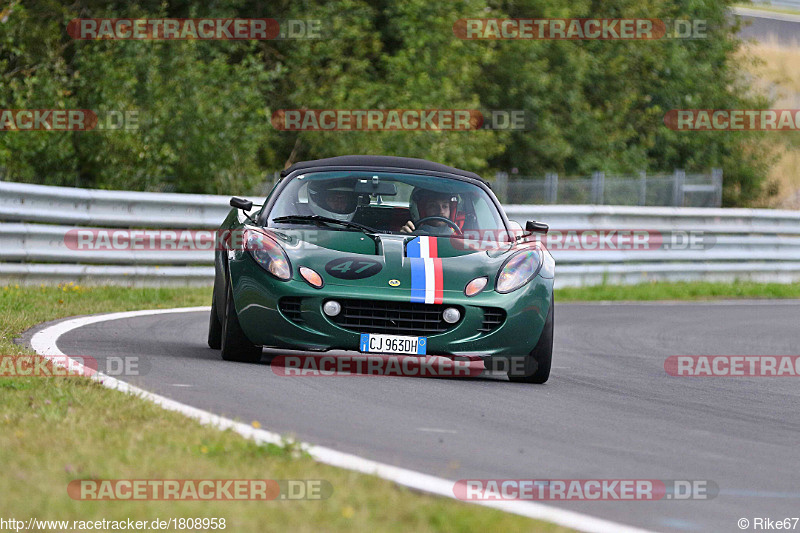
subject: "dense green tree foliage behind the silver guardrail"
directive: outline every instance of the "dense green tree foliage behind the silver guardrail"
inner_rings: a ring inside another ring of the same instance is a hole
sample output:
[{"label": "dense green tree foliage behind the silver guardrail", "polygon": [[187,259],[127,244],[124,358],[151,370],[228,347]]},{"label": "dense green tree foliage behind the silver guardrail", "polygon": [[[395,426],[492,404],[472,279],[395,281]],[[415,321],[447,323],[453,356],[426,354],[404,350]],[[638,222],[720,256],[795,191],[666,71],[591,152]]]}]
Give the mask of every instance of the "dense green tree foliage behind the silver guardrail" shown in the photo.
[{"label": "dense green tree foliage behind the silver guardrail", "polygon": [[[138,129],[0,133],[6,179],[229,193],[340,154],[422,157],[490,176],[722,167],[725,201],[762,194],[754,133],[676,132],[670,109],[769,105],[733,60],[727,2],[678,0],[11,0],[0,8],[0,109],[135,111]],[[321,20],[320,39],[77,41],[76,17]],[[689,18],[709,37],[465,41],[465,17]],[[279,109],[521,109],[525,131],[285,132]]]}]

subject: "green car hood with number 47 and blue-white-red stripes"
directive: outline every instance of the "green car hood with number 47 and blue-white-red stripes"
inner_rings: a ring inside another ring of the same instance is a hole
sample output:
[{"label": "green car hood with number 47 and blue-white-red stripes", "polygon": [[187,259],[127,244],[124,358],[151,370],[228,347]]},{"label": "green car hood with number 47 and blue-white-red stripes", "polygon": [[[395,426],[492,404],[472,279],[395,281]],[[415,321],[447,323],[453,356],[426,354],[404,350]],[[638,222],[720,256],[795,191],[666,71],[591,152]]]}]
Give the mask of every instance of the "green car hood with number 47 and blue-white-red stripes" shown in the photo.
[{"label": "green car hood with number 47 and blue-white-red stripes", "polygon": [[299,267],[305,266],[319,273],[326,285],[412,289],[412,293],[420,288],[430,292],[431,287],[463,293],[466,284],[479,276],[487,276],[491,287],[503,262],[521,246],[489,248],[454,237],[360,231],[266,231],[283,246],[295,279],[301,279]]}]

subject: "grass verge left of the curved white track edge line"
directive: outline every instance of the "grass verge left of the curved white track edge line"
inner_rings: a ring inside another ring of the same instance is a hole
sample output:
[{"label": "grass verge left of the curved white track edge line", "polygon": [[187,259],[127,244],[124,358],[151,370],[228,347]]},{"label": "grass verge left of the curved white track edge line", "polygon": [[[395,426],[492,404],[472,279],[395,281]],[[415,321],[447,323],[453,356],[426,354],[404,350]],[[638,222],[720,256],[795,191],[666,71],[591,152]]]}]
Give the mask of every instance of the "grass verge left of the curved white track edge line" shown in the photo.
[{"label": "grass verge left of the curved white track edge line", "polygon": [[[47,320],[208,305],[209,296],[207,288],[0,288],[0,354],[30,353],[13,337]],[[225,518],[225,530],[236,532],[569,531],[321,465],[292,446],[257,445],[84,378],[0,378],[0,405],[4,519]],[[75,479],[322,479],[333,495],[321,501],[75,501],[67,495]]]}]

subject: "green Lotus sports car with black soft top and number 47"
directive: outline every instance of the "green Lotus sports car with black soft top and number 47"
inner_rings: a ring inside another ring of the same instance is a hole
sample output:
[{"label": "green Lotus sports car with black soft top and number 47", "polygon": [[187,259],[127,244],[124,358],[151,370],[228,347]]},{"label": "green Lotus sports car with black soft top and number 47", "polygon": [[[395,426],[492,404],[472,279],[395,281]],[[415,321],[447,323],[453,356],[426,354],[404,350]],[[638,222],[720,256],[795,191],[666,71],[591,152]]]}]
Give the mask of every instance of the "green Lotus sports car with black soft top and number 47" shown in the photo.
[{"label": "green Lotus sports car with black soft top and number 47", "polygon": [[555,261],[478,175],[342,156],[281,173],[259,209],[233,198],[215,253],[208,344],[480,359],[544,383]]}]

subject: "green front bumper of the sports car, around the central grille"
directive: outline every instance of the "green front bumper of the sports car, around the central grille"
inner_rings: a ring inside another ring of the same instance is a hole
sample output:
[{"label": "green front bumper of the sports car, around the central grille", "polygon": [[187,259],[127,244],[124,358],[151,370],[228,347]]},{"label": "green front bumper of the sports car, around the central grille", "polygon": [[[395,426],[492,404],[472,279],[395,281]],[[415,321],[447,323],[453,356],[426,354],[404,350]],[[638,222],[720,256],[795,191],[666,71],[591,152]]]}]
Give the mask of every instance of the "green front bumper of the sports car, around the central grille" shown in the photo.
[{"label": "green front bumper of the sports car, around the central grille", "polygon": [[[345,329],[322,312],[327,300],[381,300],[409,302],[408,288],[385,289],[357,284],[328,283],[314,289],[299,279],[278,281],[242,254],[229,262],[233,299],[242,330],[254,344],[296,350],[359,350],[359,332]],[[484,290],[467,297],[445,290],[444,304],[460,306],[461,320],[446,332],[427,336],[429,355],[474,358],[509,357],[529,353],[536,345],[550,306],[553,280],[536,276],[509,294]],[[300,299],[299,314],[287,316],[279,308],[284,297]],[[484,308],[501,308],[506,317],[490,332],[480,331]],[[300,320],[297,320],[298,316]],[[387,332],[388,333],[388,332]],[[397,334],[397,333],[395,333]],[[417,335],[414,332],[405,333]]]}]

